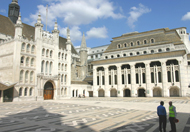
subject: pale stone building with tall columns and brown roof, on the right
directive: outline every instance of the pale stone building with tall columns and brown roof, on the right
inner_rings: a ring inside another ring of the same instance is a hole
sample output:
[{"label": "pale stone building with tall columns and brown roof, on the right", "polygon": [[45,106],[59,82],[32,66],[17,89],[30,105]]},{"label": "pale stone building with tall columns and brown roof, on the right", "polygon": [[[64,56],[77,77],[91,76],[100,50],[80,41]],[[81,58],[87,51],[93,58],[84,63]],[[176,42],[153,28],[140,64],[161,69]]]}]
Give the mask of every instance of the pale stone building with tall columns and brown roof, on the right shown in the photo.
[{"label": "pale stone building with tall columns and brown roof, on the right", "polygon": [[133,32],[113,38],[93,61],[95,97],[189,96],[186,28]]}]

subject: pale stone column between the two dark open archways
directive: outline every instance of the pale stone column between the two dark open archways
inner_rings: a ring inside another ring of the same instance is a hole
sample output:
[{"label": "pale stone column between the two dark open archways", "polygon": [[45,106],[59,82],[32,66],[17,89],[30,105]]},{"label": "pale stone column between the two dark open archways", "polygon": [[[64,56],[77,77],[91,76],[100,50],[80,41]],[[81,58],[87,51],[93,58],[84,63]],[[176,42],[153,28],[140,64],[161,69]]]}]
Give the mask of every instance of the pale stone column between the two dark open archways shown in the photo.
[{"label": "pale stone column between the two dark open archways", "polygon": [[136,96],[135,64],[130,64],[130,67],[131,67],[131,97],[135,97]]}]

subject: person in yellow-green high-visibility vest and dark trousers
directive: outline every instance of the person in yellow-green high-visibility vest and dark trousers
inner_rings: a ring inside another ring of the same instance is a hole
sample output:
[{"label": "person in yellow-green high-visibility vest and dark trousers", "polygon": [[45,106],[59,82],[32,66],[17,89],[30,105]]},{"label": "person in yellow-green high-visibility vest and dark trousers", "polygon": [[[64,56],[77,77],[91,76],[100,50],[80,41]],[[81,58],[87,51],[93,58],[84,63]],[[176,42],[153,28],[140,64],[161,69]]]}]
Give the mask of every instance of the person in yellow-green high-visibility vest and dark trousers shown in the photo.
[{"label": "person in yellow-green high-visibility vest and dark trousers", "polygon": [[172,105],[172,101],[169,102],[169,121],[171,124],[171,131],[170,132],[176,132],[176,125],[175,125],[175,119],[176,119],[176,108]]}]

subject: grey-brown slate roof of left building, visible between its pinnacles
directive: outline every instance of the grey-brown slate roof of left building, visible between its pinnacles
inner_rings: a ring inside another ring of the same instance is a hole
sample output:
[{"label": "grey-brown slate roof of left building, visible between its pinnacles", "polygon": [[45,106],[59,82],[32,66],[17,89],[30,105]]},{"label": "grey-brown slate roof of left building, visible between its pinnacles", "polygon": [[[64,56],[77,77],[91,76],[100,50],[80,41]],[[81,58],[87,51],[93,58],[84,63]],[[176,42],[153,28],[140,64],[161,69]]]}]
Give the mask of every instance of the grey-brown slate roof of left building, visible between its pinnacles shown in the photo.
[{"label": "grey-brown slate roof of left building, visible between its pinnacles", "polygon": [[[23,35],[31,40],[34,39],[35,36],[35,27],[30,26],[28,24],[23,24]],[[0,15],[0,33],[12,36],[14,38],[15,34],[15,26],[14,23],[6,16]],[[59,49],[66,49],[66,38],[59,37]],[[73,54],[78,54],[72,45],[71,52]]]}]

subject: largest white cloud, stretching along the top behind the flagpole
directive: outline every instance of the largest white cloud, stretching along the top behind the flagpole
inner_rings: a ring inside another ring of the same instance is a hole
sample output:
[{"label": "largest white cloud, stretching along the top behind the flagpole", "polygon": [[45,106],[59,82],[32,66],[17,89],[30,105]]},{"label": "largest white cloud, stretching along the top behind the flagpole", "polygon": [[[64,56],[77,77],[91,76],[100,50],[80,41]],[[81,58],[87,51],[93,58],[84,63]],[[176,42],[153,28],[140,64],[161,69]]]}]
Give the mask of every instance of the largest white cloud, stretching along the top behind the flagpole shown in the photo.
[{"label": "largest white cloud, stretching along the top behind the flagpole", "polygon": [[[48,24],[53,27],[55,19],[61,19],[69,26],[89,24],[101,18],[120,19],[123,16],[115,13],[115,8],[109,0],[44,0],[49,3]],[[45,23],[46,5],[38,5],[38,11],[30,15],[31,24],[37,21],[38,13]]]}]

